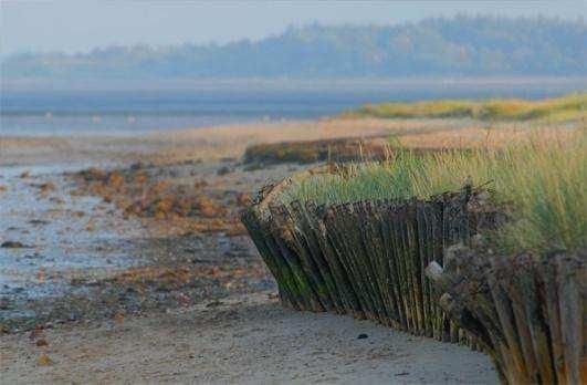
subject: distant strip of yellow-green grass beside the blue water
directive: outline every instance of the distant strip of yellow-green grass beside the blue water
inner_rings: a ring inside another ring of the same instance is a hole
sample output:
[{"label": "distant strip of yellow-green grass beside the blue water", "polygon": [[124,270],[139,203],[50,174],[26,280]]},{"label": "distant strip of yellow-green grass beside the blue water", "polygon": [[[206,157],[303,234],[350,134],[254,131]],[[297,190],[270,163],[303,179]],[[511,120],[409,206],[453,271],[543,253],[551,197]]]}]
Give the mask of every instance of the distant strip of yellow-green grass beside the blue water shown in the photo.
[{"label": "distant strip of yellow-green grass beside the blue water", "polygon": [[530,121],[551,122],[576,121],[587,116],[587,93],[574,93],[542,101],[488,100],[440,100],[416,103],[367,104],[345,114],[349,117],[375,116],[386,118],[441,118],[470,117],[483,121]]}]

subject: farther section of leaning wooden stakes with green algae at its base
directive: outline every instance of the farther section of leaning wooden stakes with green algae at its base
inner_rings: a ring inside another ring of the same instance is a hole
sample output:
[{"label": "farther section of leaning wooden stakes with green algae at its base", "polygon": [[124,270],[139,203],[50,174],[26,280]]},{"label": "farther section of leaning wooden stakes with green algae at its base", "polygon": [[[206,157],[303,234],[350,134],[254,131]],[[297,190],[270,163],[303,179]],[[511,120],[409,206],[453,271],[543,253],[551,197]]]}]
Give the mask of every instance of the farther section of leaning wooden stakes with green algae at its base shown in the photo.
[{"label": "farther section of leaning wooden stakes with green algae at its base", "polygon": [[437,304],[424,269],[442,263],[447,246],[468,243],[479,228],[494,226],[496,211],[480,209],[483,191],[465,187],[427,200],[275,204],[290,183],[270,189],[242,215],[285,305],[353,314],[476,347]]}]

